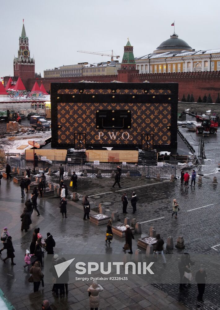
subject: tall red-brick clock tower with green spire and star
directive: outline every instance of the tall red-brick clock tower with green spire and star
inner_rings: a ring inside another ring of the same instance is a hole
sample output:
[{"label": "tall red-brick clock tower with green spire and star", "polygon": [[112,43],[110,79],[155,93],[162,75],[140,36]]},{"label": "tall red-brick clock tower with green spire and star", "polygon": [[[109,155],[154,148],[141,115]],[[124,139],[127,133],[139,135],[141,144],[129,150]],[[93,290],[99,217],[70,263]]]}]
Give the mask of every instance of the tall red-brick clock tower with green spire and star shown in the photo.
[{"label": "tall red-brick clock tower with green spire and star", "polygon": [[14,65],[14,76],[20,77],[25,85],[29,78],[34,78],[35,61],[34,58],[30,57],[29,40],[24,28],[24,20],[21,36],[19,38],[18,57],[14,58],[13,65]]}]

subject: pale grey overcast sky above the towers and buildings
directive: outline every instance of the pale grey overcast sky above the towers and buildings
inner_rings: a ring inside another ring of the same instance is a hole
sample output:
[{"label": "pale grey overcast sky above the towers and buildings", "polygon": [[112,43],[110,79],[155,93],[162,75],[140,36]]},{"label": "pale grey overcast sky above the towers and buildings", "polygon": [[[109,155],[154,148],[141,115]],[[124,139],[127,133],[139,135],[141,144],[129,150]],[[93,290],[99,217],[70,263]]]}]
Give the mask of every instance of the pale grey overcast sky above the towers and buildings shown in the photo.
[{"label": "pale grey overcast sky above the towers and buildings", "polygon": [[[1,0],[0,77],[13,76],[22,20],[35,72],[110,57],[78,53],[106,51],[123,56],[129,37],[134,56],[151,53],[169,38],[196,50],[220,48],[219,0]],[[108,53],[108,52],[106,52]]]}]

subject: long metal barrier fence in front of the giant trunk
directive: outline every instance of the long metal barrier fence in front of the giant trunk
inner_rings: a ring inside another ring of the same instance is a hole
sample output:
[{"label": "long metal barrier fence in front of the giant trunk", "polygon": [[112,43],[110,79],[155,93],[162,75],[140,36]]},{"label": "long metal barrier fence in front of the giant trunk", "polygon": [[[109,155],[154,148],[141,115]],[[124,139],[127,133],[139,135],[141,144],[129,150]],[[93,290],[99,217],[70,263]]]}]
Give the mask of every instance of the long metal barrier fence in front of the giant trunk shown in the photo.
[{"label": "long metal barrier fence in front of the giant trunk", "polygon": [[[20,160],[16,157],[7,157],[7,162],[10,164],[11,167],[20,167],[20,168],[27,168],[30,167],[33,170],[33,160]],[[59,171],[59,166],[61,162],[58,161],[42,161],[38,160],[35,162],[35,165],[39,167],[39,169],[45,170],[46,168],[51,168],[52,171]],[[84,170],[87,171],[87,174],[95,177],[100,170],[103,176],[110,176],[112,171],[116,172],[118,164],[114,162],[109,163],[99,163],[99,165],[94,165],[94,163],[83,163],[81,165],[75,164],[64,164],[62,162],[65,172],[68,173],[68,170],[76,172],[77,175],[81,175]],[[152,166],[149,164],[126,164],[120,165],[122,175],[127,174],[130,172],[130,176],[141,176],[142,173],[146,175],[147,178],[156,177],[157,174],[160,174],[161,177],[169,178],[171,175],[176,176],[176,166],[175,165],[166,165],[163,166]]]}]

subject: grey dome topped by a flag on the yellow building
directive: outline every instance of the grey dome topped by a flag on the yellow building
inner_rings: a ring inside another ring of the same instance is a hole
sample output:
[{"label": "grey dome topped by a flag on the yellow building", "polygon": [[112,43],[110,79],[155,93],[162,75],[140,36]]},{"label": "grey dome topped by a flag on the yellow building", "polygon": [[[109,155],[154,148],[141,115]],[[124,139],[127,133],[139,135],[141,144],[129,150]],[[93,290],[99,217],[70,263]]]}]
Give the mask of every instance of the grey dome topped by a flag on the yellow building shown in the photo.
[{"label": "grey dome topped by a flag on the yellow building", "polygon": [[187,42],[178,38],[178,35],[174,33],[168,40],[162,42],[154,51],[154,53],[165,53],[171,51],[192,51],[191,46]]}]

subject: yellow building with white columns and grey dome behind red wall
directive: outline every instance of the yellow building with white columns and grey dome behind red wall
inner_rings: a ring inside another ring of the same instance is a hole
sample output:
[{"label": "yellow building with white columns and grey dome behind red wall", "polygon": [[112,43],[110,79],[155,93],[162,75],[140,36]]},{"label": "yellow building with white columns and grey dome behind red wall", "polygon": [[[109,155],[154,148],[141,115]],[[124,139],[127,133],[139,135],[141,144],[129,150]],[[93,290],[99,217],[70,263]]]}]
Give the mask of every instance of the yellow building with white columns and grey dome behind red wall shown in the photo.
[{"label": "yellow building with white columns and grey dome behind red wall", "polygon": [[174,32],[151,54],[135,58],[139,73],[220,70],[220,49],[195,51]]}]

